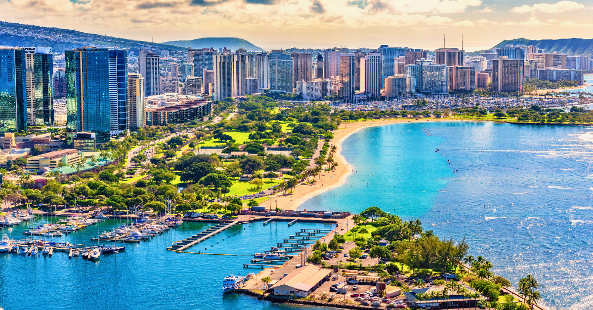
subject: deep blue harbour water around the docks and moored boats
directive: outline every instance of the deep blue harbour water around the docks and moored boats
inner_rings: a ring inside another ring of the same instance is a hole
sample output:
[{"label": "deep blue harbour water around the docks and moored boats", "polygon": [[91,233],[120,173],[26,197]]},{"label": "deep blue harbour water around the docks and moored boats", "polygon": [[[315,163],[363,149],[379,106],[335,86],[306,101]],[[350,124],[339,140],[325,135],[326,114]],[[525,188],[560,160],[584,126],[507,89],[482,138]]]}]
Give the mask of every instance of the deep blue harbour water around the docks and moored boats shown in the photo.
[{"label": "deep blue harbour water around the docks and moored boats", "polygon": [[[116,225],[113,220],[89,226],[68,237],[69,242],[90,244],[90,238]],[[270,250],[276,242],[294,235],[300,228],[333,229],[335,225],[262,222],[237,225],[192,251],[238,254],[238,256],[181,254],[166,251],[172,242],[190,237],[209,223],[184,223],[149,241],[127,244],[120,254],[101,255],[96,263],[81,258],[68,259],[67,253],[52,258],[0,254],[0,307],[18,309],[305,309],[258,301],[246,295],[222,293],[222,279],[231,273],[257,273],[243,269],[253,253]],[[23,238],[21,223],[9,233]],[[237,235],[233,235],[237,234]],[[230,235],[231,237],[228,237]],[[222,241],[222,239],[225,239]],[[216,242],[219,242],[218,244]],[[211,244],[213,247],[211,247]],[[207,247],[208,250],[204,250]],[[311,309],[311,308],[307,308]]]}]

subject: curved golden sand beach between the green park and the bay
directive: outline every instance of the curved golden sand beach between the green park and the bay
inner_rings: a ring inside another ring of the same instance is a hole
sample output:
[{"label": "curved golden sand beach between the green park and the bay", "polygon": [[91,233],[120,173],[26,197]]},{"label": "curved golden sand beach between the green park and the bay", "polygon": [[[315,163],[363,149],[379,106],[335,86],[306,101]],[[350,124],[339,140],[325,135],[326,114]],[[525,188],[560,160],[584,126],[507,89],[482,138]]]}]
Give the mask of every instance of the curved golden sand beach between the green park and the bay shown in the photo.
[{"label": "curved golden sand beach between the green park and the bay", "polygon": [[340,124],[339,128],[334,132],[334,138],[330,142],[330,145],[335,144],[338,147],[337,156],[334,156],[334,160],[338,163],[337,167],[332,171],[321,172],[321,174],[315,178],[315,183],[298,185],[294,188],[292,194],[288,192],[283,194],[283,192],[280,192],[279,194],[272,196],[272,198],[260,203],[260,206],[265,206],[268,209],[276,209],[276,207],[279,207],[283,210],[297,210],[299,205],[308,198],[344,184],[346,177],[352,173],[352,167],[346,162],[346,159],[341,154],[341,144],[343,140],[358,130],[374,126],[384,126],[386,124],[451,120],[453,119],[385,119]]}]

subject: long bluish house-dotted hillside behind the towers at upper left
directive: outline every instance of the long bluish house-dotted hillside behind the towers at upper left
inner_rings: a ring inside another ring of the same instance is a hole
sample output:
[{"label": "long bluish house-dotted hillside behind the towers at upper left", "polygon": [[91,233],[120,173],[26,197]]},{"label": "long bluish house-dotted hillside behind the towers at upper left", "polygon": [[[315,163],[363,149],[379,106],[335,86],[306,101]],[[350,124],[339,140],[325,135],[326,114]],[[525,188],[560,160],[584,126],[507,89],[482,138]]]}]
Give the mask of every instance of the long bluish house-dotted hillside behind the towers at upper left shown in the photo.
[{"label": "long bluish house-dotted hillside behind the towers at upper left", "polygon": [[1,46],[51,46],[53,52],[63,53],[64,50],[76,49],[83,46],[120,47],[130,50],[130,56],[138,55],[141,49],[152,51],[168,50],[169,52],[183,52],[178,46],[136,41],[117,37],[101,36],[99,34],[83,33],[81,31],[41,27],[37,25],[5,23],[0,21]]}]

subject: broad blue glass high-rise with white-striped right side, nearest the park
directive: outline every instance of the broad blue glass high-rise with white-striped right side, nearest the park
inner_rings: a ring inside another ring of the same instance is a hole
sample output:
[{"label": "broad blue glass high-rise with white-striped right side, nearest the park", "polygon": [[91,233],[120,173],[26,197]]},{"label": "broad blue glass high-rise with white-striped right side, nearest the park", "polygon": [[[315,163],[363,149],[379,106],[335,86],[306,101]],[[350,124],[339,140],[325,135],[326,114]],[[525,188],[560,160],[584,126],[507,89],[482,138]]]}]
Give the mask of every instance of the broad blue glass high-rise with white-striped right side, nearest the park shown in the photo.
[{"label": "broad blue glass high-rise with white-striped right side, nearest the park", "polygon": [[66,50],[66,81],[69,137],[94,132],[97,143],[106,143],[128,129],[127,50]]}]

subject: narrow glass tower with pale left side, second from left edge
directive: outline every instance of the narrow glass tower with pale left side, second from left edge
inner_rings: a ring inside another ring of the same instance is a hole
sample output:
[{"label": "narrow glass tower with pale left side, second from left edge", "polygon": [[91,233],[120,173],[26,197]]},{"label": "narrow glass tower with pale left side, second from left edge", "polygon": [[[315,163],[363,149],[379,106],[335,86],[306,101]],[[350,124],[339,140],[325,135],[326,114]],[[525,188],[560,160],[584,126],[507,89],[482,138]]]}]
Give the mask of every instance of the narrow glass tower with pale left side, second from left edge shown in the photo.
[{"label": "narrow glass tower with pale left side, second from left edge", "polygon": [[27,126],[53,125],[51,47],[23,47],[27,85]]}]

